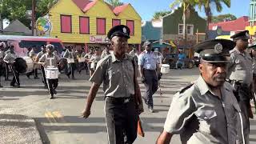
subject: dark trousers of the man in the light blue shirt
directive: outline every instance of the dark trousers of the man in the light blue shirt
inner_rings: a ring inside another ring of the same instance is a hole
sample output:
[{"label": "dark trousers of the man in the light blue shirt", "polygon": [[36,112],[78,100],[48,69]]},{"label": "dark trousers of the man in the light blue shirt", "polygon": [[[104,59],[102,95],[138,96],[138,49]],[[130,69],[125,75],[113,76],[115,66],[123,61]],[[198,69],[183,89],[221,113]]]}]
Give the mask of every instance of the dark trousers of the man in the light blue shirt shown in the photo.
[{"label": "dark trousers of the man in the light blue shirt", "polygon": [[153,94],[158,90],[158,76],[155,70],[143,70],[146,87],[146,93],[143,96],[147,106],[150,108],[154,106]]}]

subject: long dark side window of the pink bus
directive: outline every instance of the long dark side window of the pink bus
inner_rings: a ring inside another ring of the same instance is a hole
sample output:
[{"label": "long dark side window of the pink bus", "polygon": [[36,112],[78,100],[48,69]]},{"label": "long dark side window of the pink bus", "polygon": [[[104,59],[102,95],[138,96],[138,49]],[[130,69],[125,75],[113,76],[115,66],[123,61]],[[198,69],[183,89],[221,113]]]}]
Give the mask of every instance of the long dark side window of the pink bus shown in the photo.
[{"label": "long dark side window of the pink bus", "polygon": [[45,41],[26,41],[22,40],[21,42],[18,43],[18,46],[21,48],[29,48],[31,46],[36,46],[35,53],[39,53],[41,51],[41,46],[46,45]]}]

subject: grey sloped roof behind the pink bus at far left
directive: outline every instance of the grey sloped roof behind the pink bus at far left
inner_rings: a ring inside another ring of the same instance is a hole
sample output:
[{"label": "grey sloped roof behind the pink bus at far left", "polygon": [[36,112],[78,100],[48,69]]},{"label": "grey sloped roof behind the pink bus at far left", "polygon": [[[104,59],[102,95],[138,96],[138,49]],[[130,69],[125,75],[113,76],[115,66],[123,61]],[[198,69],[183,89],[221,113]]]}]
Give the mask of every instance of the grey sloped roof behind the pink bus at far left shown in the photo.
[{"label": "grey sloped roof behind the pink bus at far left", "polygon": [[31,30],[18,20],[11,22],[10,25],[3,30],[3,32],[31,34]]}]

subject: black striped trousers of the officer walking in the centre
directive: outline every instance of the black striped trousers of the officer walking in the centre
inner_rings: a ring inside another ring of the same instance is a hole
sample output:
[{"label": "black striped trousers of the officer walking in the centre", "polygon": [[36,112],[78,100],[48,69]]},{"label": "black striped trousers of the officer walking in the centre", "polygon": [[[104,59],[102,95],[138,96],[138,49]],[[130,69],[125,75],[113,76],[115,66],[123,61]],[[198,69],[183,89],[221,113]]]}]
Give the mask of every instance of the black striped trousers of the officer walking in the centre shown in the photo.
[{"label": "black striped trousers of the officer walking in the centre", "polygon": [[106,97],[106,129],[109,144],[131,144],[137,138],[138,114],[134,99]]}]

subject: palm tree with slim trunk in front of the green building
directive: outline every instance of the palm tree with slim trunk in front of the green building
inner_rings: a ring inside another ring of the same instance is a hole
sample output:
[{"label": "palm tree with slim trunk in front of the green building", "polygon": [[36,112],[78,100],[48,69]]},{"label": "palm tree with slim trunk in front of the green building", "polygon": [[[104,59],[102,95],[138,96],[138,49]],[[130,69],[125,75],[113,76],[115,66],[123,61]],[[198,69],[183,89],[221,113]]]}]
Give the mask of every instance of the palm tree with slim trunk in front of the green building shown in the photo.
[{"label": "palm tree with slim trunk in front of the green building", "polygon": [[195,6],[197,0],[175,0],[170,4],[170,8],[173,9],[175,6],[182,5],[183,8],[183,39],[186,45],[186,18],[190,14],[190,6]]}]

